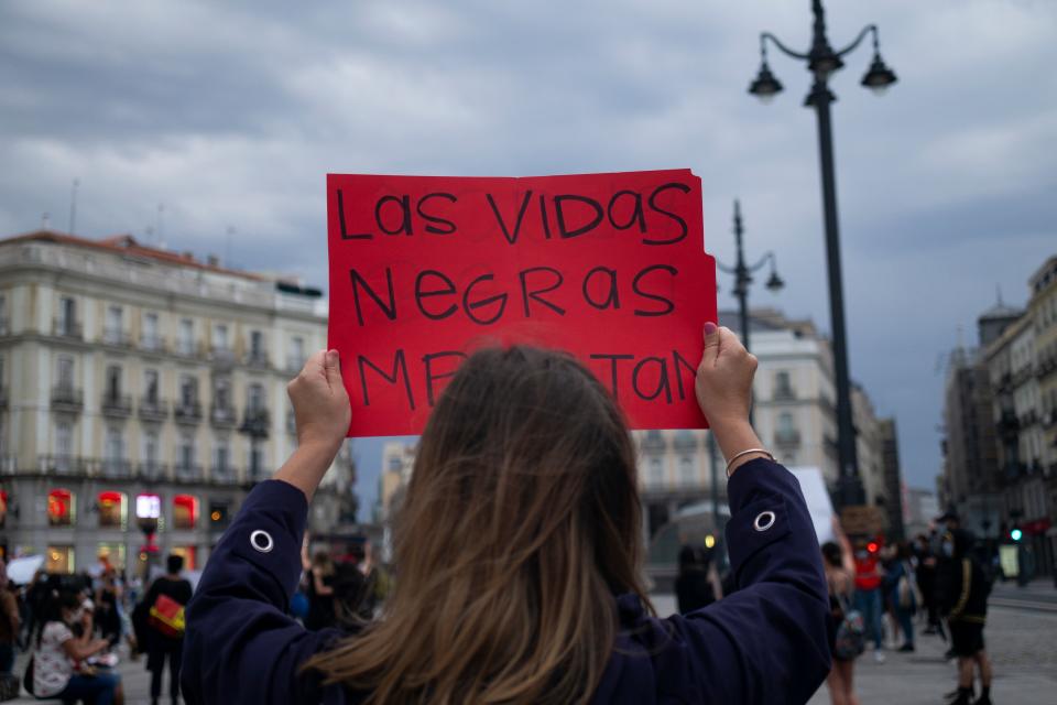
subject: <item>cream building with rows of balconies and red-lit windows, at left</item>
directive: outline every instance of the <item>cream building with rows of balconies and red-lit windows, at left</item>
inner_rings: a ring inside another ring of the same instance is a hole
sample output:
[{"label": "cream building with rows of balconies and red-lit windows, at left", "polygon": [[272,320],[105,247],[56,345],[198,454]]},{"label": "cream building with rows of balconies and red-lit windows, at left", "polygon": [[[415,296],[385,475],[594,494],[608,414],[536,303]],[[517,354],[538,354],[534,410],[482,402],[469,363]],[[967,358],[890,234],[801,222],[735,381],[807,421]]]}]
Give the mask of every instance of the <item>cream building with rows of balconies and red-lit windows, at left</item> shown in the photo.
[{"label": "cream building with rows of balconies and red-lit windows, at left", "polygon": [[[285,386],[325,314],[318,290],[129,236],[0,240],[0,550],[57,572],[155,551],[200,566],[296,444]],[[312,525],[355,516],[350,458]]]}]

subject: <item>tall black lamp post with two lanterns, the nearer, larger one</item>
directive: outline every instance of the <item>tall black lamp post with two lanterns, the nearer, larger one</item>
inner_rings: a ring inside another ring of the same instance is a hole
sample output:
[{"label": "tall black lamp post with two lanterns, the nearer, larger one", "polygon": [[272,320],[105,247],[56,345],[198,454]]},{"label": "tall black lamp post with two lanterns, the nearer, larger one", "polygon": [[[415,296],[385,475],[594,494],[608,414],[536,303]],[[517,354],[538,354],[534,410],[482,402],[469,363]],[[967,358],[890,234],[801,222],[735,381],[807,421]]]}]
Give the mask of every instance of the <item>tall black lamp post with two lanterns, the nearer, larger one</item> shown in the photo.
[{"label": "tall black lamp post with two lanterns, the nearer, larger one", "polygon": [[833,175],[833,137],[829,115],[829,105],[836,97],[829,90],[829,77],[843,65],[842,57],[862,43],[867,34],[873,37],[873,61],[862,77],[861,84],[876,94],[882,94],[896,82],[895,74],[881,59],[878,47],[878,26],[868,24],[856,40],[840,51],[829,45],[826,36],[826,19],[821,0],[811,0],[815,15],[811,48],[806,54],[786,47],[770,32],[760,35],[760,73],[749,86],[749,93],[770,100],[782,90],[782,84],[767,65],[767,42],[773,43],[783,54],[807,62],[807,69],[815,77],[810,93],[804,105],[814,108],[818,118],[818,151],[822,172],[822,215],[826,225],[826,259],[829,270],[829,313],[833,338],[833,367],[837,377],[837,425],[838,458],[840,485],[838,496],[843,506],[860,505],[863,501],[862,480],[859,477],[859,460],[856,454],[856,431],[851,416],[851,386],[848,375],[848,341],[844,330],[843,284],[840,271],[840,234],[837,224],[837,187]]}]

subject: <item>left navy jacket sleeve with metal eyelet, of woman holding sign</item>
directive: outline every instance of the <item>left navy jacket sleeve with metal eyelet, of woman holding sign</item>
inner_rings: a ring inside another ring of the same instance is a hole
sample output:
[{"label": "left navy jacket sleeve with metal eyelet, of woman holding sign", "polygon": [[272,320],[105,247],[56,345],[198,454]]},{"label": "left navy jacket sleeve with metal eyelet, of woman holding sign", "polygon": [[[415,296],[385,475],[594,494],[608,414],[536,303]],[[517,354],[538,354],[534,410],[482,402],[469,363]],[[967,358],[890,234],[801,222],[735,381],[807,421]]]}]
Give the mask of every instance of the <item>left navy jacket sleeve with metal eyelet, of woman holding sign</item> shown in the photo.
[{"label": "left navy jacket sleeve with metal eyelet, of woman holding sign", "polygon": [[247,497],[206,563],[187,605],[181,685],[187,703],[341,703],[299,666],[340,639],[306,631],[288,615],[301,577],[308,505],[281,480]]}]

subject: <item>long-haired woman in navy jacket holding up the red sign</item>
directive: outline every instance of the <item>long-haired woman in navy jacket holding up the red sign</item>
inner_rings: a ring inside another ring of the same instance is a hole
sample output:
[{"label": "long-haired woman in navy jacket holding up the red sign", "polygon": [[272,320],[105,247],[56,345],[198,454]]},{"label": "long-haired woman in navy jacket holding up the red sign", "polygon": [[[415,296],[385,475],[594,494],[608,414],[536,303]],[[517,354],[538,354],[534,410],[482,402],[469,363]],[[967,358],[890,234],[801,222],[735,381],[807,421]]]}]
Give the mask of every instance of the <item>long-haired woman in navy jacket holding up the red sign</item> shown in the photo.
[{"label": "long-haired woman in navy jacket holding up the red sign", "polygon": [[805,703],[825,680],[810,516],[749,424],[755,358],[712,324],[696,393],[728,460],[732,596],[655,617],[622,412],[571,356],[513,346],[471,355],[433,409],[381,618],[306,631],[285,609],[308,502],[349,426],[338,359],[317,352],[288,386],[297,449],[203,572],[189,703]]}]

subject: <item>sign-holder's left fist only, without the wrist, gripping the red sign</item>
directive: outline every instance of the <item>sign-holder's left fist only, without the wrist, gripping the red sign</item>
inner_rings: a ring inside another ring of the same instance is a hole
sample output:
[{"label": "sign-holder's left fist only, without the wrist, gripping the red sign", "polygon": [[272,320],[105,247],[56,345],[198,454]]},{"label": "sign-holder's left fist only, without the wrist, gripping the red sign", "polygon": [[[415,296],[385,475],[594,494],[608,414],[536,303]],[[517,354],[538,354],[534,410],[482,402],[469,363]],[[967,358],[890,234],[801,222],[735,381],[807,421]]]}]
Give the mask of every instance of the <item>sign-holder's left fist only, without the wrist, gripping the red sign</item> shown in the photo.
[{"label": "sign-holder's left fist only, without the wrist, gripping the red sign", "polygon": [[337,350],[319,350],[286,386],[297,422],[297,445],[337,448],[349,430],[352,412],[341,381]]}]

